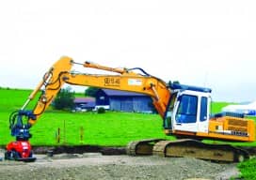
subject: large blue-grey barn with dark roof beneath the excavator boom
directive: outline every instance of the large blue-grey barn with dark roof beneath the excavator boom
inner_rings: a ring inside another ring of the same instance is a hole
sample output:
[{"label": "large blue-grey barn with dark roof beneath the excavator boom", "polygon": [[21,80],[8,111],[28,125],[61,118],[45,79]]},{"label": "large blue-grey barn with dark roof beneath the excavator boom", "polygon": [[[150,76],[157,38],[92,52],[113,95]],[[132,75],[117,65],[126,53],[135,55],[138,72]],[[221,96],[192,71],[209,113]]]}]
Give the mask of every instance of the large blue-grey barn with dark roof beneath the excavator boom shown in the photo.
[{"label": "large blue-grey barn with dark roof beneath the excavator boom", "polygon": [[138,93],[99,89],[96,93],[96,108],[111,111],[152,113],[152,98]]}]

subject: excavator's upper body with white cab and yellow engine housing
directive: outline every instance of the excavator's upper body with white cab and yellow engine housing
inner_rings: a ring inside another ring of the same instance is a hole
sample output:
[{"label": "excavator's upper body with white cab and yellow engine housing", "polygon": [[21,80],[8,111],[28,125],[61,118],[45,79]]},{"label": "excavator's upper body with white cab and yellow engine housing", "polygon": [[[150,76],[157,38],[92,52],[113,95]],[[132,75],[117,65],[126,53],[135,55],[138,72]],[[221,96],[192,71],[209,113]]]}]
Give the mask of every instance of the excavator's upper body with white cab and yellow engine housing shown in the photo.
[{"label": "excavator's upper body with white cab and yellow engine housing", "polygon": [[172,83],[164,128],[166,134],[193,139],[254,142],[254,121],[238,113],[211,114],[209,88]]}]

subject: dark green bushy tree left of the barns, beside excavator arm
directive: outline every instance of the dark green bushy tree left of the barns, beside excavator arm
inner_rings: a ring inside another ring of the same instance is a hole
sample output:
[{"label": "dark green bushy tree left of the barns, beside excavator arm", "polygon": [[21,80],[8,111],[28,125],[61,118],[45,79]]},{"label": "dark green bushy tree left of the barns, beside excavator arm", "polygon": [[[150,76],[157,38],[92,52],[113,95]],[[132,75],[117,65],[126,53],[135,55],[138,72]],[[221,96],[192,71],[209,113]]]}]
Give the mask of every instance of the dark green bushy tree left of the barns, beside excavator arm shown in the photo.
[{"label": "dark green bushy tree left of the barns, beside excavator arm", "polygon": [[56,110],[72,110],[74,107],[74,92],[71,87],[60,89],[54,100],[53,106]]}]

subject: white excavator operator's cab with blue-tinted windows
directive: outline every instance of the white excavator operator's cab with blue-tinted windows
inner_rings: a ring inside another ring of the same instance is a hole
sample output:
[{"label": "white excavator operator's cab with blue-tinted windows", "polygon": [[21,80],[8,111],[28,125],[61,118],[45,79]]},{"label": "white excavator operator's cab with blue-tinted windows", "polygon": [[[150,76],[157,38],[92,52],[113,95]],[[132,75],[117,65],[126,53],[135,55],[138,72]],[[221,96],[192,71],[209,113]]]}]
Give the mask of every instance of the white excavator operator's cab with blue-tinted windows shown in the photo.
[{"label": "white excavator operator's cab with blue-tinted windows", "polygon": [[171,84],[170,97],[164,128],[185,132],[208,132],[211,89]]}]

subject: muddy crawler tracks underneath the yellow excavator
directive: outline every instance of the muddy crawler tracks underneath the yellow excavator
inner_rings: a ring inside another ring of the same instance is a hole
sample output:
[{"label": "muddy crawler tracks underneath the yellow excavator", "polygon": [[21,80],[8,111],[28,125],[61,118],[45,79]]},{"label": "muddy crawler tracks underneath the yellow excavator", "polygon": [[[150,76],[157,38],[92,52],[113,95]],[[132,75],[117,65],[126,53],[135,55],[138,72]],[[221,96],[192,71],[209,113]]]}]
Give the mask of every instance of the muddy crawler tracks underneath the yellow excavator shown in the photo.
[{"label": "muddy crawler tracks underneath the yellow excavator", "polygon": [[240,162],[249,158],[249,153],[245,149],[229,144],[202,143],[193,139],[135,141],[127,145],[127,154],[130,156],[190,157],[222,162]]}]

